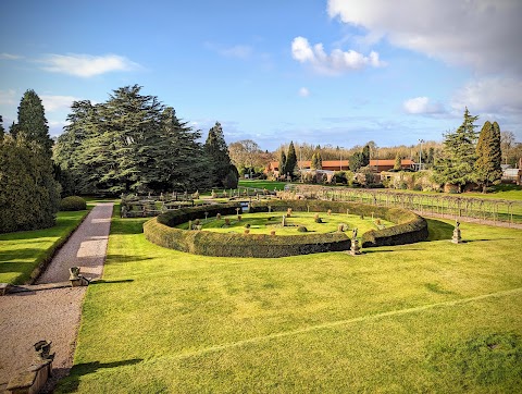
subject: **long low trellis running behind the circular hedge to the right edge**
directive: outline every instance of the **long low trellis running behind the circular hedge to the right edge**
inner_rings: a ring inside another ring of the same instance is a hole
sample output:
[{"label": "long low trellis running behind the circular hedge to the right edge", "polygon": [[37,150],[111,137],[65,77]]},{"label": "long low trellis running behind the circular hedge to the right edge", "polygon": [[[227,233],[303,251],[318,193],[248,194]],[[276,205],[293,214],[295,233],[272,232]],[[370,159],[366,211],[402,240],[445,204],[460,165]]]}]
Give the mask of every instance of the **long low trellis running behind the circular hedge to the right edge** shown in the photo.
[{"label": "long low trellis running behind the circular hedge to the right edge", "polygon": [[440,214],[456,219],[465,217],[509,224],[522,223],[522,201],[319,185],[294,185],[291,193],[304,198],[401,207],[425,214]]}]

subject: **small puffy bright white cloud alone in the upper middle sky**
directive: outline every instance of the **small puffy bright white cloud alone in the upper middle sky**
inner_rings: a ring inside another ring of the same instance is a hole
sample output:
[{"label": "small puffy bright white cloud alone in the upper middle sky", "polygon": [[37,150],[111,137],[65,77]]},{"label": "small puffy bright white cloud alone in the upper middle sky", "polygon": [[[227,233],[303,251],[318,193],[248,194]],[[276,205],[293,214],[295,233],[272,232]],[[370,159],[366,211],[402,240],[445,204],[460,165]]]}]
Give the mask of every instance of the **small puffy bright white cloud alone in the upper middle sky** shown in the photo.
[{"label": "small puffy bright white cloud alone in the upper middle sky", "polygon": [[351,49],[346,52],[334,49],[331,54],[327,54],[322,44],[311,47],[304,37],[294,38],[291,56],[301,63],[310,63],[316,72],[330,75],[338,75],[341,72],[360,70],[365,66],[380,67],[386,65],[378,59],[377,52],[372,51],[365,57]]}]

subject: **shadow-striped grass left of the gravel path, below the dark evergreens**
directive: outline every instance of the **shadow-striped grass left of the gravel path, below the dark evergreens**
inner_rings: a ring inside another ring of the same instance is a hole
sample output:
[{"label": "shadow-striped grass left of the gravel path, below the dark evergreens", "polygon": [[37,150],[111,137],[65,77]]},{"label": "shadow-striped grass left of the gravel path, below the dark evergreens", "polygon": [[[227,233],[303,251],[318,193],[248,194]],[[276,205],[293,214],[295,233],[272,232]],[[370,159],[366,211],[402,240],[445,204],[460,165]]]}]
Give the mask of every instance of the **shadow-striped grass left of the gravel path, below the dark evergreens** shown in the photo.
[{"label": "shadow-striped grass left of the gravel path, below the dark evergreens", "polygon": [[57,224],[50,229],[0,234],[0,283],[26,283],[87,213],[88,210],[58,212]]}]

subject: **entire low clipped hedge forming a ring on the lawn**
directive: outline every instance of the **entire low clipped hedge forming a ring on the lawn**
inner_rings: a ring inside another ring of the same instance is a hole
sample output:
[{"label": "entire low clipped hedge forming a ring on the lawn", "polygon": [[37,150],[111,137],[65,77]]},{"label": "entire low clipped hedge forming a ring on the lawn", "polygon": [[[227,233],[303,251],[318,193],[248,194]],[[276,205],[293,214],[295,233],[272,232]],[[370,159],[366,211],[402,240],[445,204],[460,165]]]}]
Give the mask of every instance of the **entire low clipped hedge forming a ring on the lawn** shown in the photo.
[{"label": "entire low clipped hedge forming a ring on the lawn", "polygon": [[[148,241],[171,249],[203,256],[221,257],[285,257],[323,251],[348,250],[351,241],[343,232],[310,235],[221,234],[207,231],[187,231],[174,226],[190,220],[235,214],[238,204],[182,208],[149,220],[144,224]],[[401,245],[427,238],[427,223],[418,214],[398,208],[385,208],[353,202],[322,200],[252,201],[249,212],[318,211],[328,209],[335,213],[365,214],[384,218],[396,225],[371,230],[362,234],[362,246]]]}]

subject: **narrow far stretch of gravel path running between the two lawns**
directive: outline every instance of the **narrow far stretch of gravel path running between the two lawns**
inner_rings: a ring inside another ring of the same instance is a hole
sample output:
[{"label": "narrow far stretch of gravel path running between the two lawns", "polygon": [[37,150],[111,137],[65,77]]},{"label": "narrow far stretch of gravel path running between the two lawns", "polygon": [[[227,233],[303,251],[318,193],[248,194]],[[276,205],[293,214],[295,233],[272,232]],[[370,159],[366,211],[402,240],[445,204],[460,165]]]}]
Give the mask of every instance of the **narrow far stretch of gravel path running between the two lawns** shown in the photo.
[{"label": "narrow far stretch of gravel path running between the two lawns", "polygon": [[71,267],[80,267],[80,273],[86,278],[100,278],[105,261],[112,208],[112,202],[98,204],[54,256],[37,283],[66,282]]}]

